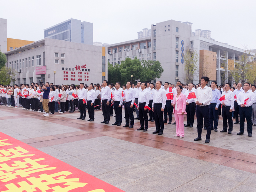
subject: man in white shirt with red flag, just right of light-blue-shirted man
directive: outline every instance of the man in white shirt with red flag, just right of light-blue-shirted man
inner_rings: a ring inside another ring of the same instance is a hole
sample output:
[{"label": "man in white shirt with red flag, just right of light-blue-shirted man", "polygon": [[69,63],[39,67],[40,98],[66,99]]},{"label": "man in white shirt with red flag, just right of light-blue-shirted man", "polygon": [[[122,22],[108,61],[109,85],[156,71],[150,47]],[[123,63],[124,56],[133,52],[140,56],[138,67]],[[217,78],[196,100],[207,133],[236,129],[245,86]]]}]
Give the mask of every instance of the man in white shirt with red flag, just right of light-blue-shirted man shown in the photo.
[{"label": "man in white shirt with red flag, just right of light-blue-shirted man", "polygon": [[229,122],[229,133],[233,131],[232,111],[234,107],[234,93],[230,91],[230,84],[226,83],[223,87],[224,92],[221,94],[221,98],[225,95],[225,99],[221,101],[222,104],[222,118],[223,118],[223,130],[221,133],[227,132],[227,120]]}]

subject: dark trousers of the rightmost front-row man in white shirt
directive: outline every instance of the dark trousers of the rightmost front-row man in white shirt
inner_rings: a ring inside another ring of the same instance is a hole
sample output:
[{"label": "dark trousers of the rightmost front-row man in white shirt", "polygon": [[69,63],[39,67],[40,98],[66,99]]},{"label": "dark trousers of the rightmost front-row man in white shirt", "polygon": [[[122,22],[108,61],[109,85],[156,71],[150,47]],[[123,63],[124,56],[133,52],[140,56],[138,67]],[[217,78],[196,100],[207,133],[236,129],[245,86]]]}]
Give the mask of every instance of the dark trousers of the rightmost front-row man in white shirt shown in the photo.
[{"label": "dark trousers of the rightmost front-row man in white shirt", "polygon": [[[235,110],[236,111],[236,110]],[[249,107],[240,107],[239,106],[239,115],[240,115],[240,131],[244,133],[244,120],[247,122],[247,133],[252,133],[252,106]]]}]

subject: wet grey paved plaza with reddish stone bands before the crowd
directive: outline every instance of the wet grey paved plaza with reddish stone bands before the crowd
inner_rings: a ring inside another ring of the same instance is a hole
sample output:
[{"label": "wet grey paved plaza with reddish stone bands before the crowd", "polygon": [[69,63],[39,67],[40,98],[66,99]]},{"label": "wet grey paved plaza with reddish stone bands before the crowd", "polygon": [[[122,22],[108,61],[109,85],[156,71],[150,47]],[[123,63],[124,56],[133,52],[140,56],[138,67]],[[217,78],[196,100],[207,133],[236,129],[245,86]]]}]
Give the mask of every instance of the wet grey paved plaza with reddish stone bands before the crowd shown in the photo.
[{"label": "wet grey paved plaza with reddish stone bands before the crowd", "polygon": [[[136,113],[134,112],[136,116]],[[210,143],[185,127],[184,138],[174,138],[176,126],[165,123],[163,135],[112,126],[103,121],[102,111],[95,111],[95,121],[77,120],[80,112],[42,113],[0,106],[0,132],[41,150],[75,168],[99,178],[125,192],[256,192],[256,127],[252,137],[211,132]],[[172,123],[174,122],[174,117]]]}]

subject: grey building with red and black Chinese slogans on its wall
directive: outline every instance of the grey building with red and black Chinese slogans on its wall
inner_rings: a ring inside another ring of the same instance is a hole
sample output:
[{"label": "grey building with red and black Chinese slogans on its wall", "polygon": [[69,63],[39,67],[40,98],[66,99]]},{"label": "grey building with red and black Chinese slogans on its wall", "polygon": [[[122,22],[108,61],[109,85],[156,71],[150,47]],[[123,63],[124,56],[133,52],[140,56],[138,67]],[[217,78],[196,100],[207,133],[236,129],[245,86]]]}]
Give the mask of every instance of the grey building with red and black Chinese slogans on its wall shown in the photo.
[{"label": "grey building with red and black Chinese slogans on its wall", "polygon": [[7,66],[16,70],[16,84],[101,83],[108,65],[105,47],[45,38],[5,53]]}]

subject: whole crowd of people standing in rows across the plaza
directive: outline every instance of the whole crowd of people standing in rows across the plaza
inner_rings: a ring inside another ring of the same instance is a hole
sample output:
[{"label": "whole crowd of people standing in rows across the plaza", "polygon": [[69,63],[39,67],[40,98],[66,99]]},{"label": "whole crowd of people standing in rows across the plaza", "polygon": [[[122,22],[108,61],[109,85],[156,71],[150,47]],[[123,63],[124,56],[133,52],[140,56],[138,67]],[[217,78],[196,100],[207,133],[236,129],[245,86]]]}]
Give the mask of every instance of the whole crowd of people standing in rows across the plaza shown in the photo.
[{"label": "whole crowd of people standing in rows across the plaza", "polygon": [[[94,121],[94,111],[102,109],[104,120],[101,123],[109,124],[110,116],[115,112],[115,123],[121,126],[122,108],[125,112],[125,125],[133,128],[134,119],[140,120],[138,130],[147,131],[148,121],[155,122],[156,130],[153,134],[162,135],[164,123],[172,124],[174,114],[176,135],[183,138],[184,127],[193,127],[195,114],[197,119],[198,137],[194,141],[202,140],[202,128],[207,130],[206,143],[210,142],[211,131],[218,131],[219,115],[223,117],[222,133],[233,131],[234,123],[240,123],[240,132],[244,134],[244,122],[247,121],[248,136],[252,137],[252,125],[256,126],[256,91],[255,85],[245,82],[242,84],[229,83],[221,86],[212,81],[207,86],[208,77],[202,77],[200,84],[176,85],[169,82],[157,81],[155,85],[150,82],[138,82],[126,85],[109,84],[104,80],[102,84],[89,86],[80,85],[53,85],[31,83],[14,86],[1,85],[1,105],[8,107],[23,107],[23,110],[45,112],[44,116],[59,112],[80,111],[78,119],[85,120],[86,110],[88,121]],[[122,88],[121,88],[122,87]],[[136,118],[133,115],[136,112]],[[148,118],[149,115],[149,118]],[[187,115],[187,124],[184,124],[184,115]],[[240,121],[239,121],[240,118]],[[168,121],[169,120],[169,121]]]}]

